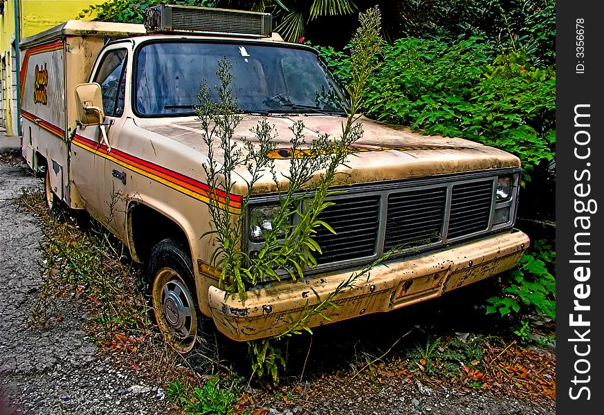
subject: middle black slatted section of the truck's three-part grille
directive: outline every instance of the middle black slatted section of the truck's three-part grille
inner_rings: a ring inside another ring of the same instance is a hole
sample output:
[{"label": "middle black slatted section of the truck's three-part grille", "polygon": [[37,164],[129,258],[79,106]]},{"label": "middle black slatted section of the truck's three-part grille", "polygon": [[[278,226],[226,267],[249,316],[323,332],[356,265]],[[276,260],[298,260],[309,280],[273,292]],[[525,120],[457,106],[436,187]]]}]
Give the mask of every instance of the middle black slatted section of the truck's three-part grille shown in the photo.
[{"label": "middle black slatted section of the truck's three-part grille", "polygon": [[392,193],[388,197],[384,249],[411,248],[441,238],[446,187]]}]

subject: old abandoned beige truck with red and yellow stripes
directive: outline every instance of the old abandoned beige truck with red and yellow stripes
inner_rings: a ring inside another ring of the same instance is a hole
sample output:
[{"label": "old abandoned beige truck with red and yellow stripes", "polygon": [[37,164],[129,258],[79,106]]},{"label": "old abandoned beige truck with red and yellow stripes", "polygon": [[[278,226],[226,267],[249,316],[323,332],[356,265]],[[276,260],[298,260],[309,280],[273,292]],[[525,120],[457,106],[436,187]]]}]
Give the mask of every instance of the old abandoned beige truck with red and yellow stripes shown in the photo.
[{"label": "old abandoned beige truck with red and yellow stripes", "polygon": [[[145,25],[67,21],[20,46],[22,153],[44,172],[48,207],[86,210],[147,264],[158,326],[183,353],[206,322],[238,341],[283,333],[290,317],[397,246],[404,248],[338,296],[330,322],[496,275],[529,246],[514,228],[518,158],[360,117],[365,133],[347,160],[347,186],[322,212],[336,234],[318,232],[318,264],[303,279],[248,286],[244,297],[228,293],[210,260],[216,247],[201,237],[212,226],[212,189],[194,113],[199,86],[217,84],[217,62],[227,57],[243,115],[235,139],[262,119],[280,136],[298,120],[309,139],[337,136],[345,92],[315,50],[283,42],[270,15],[165,5],[149,9]],[[328,103],[316,100],[320,91]],[[286,144],[277,143],[277,154]],[[277,169],[291,163],[284,154],[275,157]],[[236,186],[224,206],[245,215],[243,252],[262,246],[271,226],[277,194],[269,182],[257,183],[247,205],[246,187]],[[327,322],[315,315],[307,324]]]}]

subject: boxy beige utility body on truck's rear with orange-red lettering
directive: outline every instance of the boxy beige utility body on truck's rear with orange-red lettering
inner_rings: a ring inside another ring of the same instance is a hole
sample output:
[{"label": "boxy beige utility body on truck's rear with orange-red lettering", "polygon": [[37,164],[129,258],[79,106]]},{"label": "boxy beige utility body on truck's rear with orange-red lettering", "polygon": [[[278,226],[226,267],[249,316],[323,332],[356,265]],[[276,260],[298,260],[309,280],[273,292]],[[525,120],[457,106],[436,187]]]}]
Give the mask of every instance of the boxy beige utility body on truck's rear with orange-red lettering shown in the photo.
[{"label": "boxy beige utility body on truck's rear with orange-red lettering", "polygon": [[145,33],[142,25],[70,20],[23,39],[21,118],[23,156],[34,169],[48,163],[53,193],[71,208],[82,208],[69,182],[68,139],[75,131],[75,86],[88,80],[104,44],[113,38]]}]

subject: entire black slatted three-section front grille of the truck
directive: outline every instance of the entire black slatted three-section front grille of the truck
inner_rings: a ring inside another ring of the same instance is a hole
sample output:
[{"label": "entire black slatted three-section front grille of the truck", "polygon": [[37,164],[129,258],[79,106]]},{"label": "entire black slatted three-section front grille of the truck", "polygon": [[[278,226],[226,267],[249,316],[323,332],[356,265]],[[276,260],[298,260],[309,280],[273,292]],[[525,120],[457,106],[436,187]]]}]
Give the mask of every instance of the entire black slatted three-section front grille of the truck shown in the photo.
[{"label": "entire black slatted three-section front grille of the truck", "polygon": [[458,180],[367,195],[350,192],[332,199],[336,205],[324,210],[320,219],[336,234],[318,230],[315,241],[322,255],[315,256],[317,268],[374,257],[392,248],[403,253],[437,248],[450,240],[487,232],[493,185],[493,178]]}]

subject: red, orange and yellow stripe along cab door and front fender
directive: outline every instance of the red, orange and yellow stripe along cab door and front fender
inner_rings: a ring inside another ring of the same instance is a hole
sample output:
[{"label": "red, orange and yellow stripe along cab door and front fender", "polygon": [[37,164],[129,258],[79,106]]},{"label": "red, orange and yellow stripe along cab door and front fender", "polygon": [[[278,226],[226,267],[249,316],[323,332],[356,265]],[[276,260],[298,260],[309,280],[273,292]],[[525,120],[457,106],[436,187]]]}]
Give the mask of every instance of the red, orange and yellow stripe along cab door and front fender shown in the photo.
[{"label": "red, orange and yellow stripe along cab door and front fender", "polygon": [[228,210],[234,214],[241,214],[241,203],[243,196],[237,194],[229,194],[227,198],[226,192],[217,188],[211,187],[205,183],[184,176],[174,170],[167,169],[155,163],[151,163],[142,158],[132,156],[118,149],[111,149],[107,153],[107,146],[99,144],[88,138],[75,135],[72,140],[73,145],[77,145],[82,149],[91,151],[97,156],[113,161],[126,169],[136,172],[142,176],[152,179],[158,183],[171,187],[187,196],[209,204],[210,201],[216,201],[221,208],[225,208],[228,203]]}]

